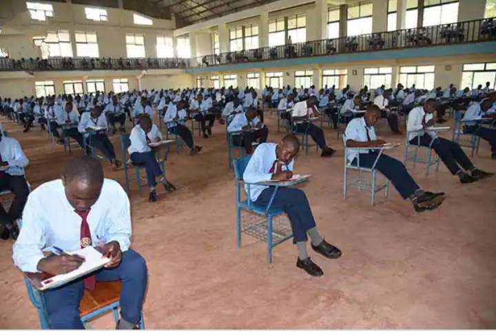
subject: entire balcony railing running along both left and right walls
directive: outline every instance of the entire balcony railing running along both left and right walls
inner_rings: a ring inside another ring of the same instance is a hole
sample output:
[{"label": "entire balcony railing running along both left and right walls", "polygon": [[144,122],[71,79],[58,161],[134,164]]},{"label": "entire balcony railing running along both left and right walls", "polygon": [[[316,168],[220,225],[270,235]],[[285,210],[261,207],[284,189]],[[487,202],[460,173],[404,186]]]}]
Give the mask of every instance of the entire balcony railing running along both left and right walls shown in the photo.
[{"label": "entire balcony railing running along both left and right walls", "polygon": [[0,58],[0,71],[90,71],[129,69],[185,69],[247,62],[277,61],[286,58],[329,56],[353,52],[400,50],[481,41],[496,41],[496,18],[464,21],[449,25],[377,32],[359,36],[340,37],[260,47],[258,49],[211,54],[197,58]]}]

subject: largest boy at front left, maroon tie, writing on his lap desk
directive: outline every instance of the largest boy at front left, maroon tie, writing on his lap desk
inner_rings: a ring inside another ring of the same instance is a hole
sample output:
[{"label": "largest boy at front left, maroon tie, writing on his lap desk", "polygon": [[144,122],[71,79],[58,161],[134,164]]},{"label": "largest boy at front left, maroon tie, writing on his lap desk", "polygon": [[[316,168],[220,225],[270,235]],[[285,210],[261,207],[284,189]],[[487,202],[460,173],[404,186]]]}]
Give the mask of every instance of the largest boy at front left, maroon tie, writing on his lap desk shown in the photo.
[{"label": "largest boy at front left, maroon tie, writing on his lap desk", "polygon": [[37,187],[24,208],[23,226],[14,244],[14,264],[23,272],[65,274],[84,259],[78,255],[50,255],[54,247],[78,250],[93,246],[110,258],[90,276],[43,292],[50,329],[84,329],[79,303],[85,288],[96,281],[122,281],[121,318],[116,329],[137,329],[147,287],[147,267],[130,249],[130,203],[121,185],[103,177],[98,160],[74,158],[61,179]]}]

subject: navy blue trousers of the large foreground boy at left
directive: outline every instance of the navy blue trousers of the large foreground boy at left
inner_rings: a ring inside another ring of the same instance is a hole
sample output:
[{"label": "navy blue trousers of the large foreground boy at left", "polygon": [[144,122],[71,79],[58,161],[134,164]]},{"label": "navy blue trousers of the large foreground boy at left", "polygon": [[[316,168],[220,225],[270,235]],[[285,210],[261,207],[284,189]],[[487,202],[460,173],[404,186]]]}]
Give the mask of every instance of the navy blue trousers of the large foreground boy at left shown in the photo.
[{"label": "navy blue trousers of the large foreground boy at left", "polygon": [[[122,281],[121,317],[130,323],[139,323],[143,297],[147,287],[145,259],[134,250],[123,252],[117,268],[96,273],[96,281]],[[61,288],[46,291],[45,307],[50,329],[84,329],[79,318],[79,303],[83,299],[83,280],[73,281]]]}]

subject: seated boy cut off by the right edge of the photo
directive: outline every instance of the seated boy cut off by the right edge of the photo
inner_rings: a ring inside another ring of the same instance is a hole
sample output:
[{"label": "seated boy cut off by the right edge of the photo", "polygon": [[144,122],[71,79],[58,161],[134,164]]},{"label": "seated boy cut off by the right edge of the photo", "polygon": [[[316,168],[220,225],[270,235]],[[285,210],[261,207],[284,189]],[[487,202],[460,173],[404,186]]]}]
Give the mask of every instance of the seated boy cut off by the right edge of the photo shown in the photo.
[{"label": "seated boy cut off by the right edge of the photo", "polygon": [[491,146],[491,158],[496,160],[496,129],[482,127],[482,125],[477,124],[477,121],[483,118],[496,118],[496,114],[489,113],[491,107],[493,107],[493,101],[489,98],[483,99],[480,103],[474,103],[466,110],[463,120],[465,121],[465,132],[473,133],[479,138],[488,141]]}]

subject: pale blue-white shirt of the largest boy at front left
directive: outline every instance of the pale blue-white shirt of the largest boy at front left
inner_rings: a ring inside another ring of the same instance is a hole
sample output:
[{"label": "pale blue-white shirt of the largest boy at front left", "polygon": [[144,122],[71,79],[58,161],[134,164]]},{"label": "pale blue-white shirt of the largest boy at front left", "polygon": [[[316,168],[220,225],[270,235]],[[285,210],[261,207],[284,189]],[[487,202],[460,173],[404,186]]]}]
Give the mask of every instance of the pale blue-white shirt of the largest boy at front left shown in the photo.
[{"label": "pale blue-white shirt of the largest boy at front left", "polygon": [[[43,251],[56,246],[81,249],[81,217],[65,197],[62,180],[53,180],[30,193],[23,212],[23,227],[14,244],[14,264],[23,272],[39,272]],[[127,194],[114,180],[103,180],[99,199],[87,216],[92,246],[117,241],[122,251],[130,246],[131,212]]]}]

